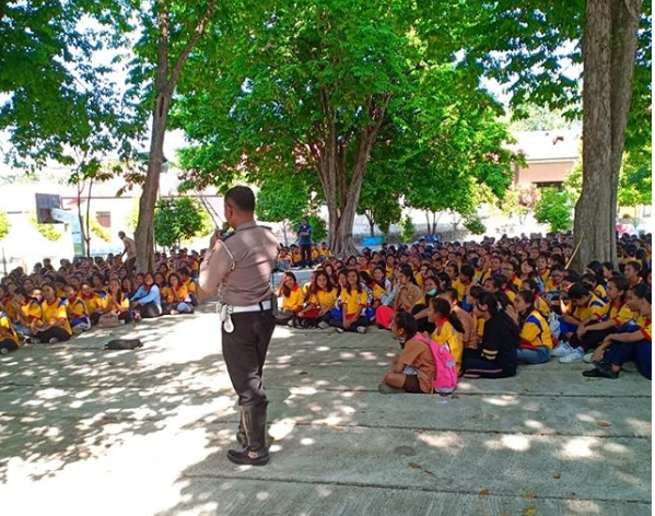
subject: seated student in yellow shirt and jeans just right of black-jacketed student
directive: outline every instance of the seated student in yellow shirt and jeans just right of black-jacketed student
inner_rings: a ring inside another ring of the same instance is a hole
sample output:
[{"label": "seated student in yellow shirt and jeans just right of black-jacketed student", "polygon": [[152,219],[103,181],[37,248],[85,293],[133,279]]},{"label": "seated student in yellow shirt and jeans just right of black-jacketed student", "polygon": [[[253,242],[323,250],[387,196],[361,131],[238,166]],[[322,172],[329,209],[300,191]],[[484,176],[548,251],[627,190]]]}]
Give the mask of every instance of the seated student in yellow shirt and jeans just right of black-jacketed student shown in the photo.
[{"label": "seated student in yellow shirt and jeans just right of black-jacketed student", "polygon": [[552,333],[550,326],[535,306],[535,293],[522,290],[514,298],[519,317],[521,345],[516,359],[526,364],[543,364],[550,360]]}]

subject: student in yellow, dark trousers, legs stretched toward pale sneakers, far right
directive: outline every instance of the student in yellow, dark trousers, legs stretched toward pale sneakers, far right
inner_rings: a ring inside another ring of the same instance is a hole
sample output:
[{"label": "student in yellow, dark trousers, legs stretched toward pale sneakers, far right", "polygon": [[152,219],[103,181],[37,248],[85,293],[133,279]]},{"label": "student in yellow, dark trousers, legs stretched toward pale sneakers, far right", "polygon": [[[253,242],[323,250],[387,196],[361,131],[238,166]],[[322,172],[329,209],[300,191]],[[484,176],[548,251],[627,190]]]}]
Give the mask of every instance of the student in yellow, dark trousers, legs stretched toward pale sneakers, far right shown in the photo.
[{"label": "student in yellow, dark trousers, legs stretched toward pale sneakers, far right", "polygon": [[609,296],[609,313],[605,320],[592,321],[586,326],[580,326],[569,343],[573,352],[560,359],[563,364],[577,362],[584,357],[585,352],[600,345],[603,340],[611,333],[619,331],[623,325],[636,319],[639,314],[632,312],[625,302],[629,291],[628,280],[622,277],[616,277],[609,280],[607,293]]}]

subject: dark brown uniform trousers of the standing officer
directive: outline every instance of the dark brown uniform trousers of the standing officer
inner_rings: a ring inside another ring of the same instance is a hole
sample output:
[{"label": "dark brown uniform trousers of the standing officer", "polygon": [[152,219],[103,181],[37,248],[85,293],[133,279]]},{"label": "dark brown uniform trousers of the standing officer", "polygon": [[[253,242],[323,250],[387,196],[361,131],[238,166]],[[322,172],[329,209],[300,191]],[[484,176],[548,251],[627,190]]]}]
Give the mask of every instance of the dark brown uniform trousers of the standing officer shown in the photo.
[{"label": "dark brown uniform trousers of the standing officer", "polygon": [[276,329],[272,310],[232,314],[234,331],[221,324],[223,359],[241,407],[266,408],[268,399],[261,374],[271,336]]}]

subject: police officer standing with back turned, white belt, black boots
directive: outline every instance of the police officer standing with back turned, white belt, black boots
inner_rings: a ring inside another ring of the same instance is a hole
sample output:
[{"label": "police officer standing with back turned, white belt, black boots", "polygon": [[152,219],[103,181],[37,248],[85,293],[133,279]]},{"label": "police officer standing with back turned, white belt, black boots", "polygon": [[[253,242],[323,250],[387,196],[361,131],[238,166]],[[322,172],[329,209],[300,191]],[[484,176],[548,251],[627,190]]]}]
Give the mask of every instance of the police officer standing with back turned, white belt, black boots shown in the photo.
[{"label": "police officer standing with back turned, white belt, black boots", "polygon": [[279,243],[272,232],[255,223],[255,195],[245,186],[225,195],[225,220],[235,232],[221,238],[217,231],[200,266],[199,284],[212,295],[219,290],[223,359],[238,395],[241,450],[229,450],[235,464],[264,466],[268,400],[261,373],[276,319],[270,284]]}]

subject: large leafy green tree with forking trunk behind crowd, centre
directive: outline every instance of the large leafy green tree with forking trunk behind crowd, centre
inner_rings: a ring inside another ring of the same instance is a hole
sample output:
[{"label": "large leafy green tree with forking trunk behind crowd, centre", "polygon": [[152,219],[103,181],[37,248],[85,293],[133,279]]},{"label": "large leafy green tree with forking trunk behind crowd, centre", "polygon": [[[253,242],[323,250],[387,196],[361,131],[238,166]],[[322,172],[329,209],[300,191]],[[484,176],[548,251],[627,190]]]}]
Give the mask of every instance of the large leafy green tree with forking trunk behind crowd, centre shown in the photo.
[{"label": "large leafy green tree with forking trunk behind crowd, centre", "polygon": [[[191,57],[203,67],[180,83],[175,122],[197,142],[182,154],[188,186],[313,175],[337,253],[348,250],[355,211],[383,226],[398,218],[377,202],[383,185],[367,179],[381,163],[406,181],[432,169],[465,192],[471,175],[502,195],[510,171],[506,131],[493,125],[500,110],[479,78],[455,70],[456,42],[428,50],[412,2],[241,5],[234,26],[214,34],[213,54]],[[382,194],[399,198],[396,188]]]}]

